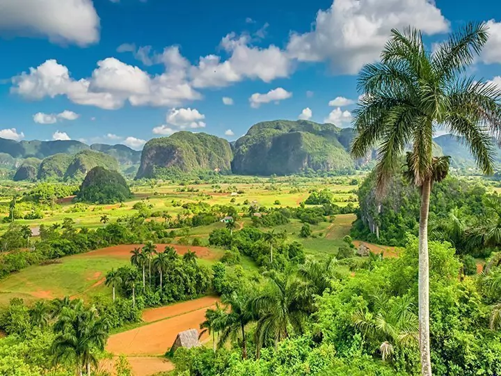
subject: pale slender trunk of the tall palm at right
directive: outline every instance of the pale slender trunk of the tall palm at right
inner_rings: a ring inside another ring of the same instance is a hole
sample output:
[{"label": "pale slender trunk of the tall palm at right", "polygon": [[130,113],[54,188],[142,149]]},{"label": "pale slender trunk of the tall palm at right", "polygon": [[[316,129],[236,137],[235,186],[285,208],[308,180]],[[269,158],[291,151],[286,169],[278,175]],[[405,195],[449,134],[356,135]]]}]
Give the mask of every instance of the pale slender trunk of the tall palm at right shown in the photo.
[{"label": "pale slender trunk of the tall palm at right", "polygon": [[421,188],[421,211],[419,231],[419,322],[421,375],[431,376],[430,340],[429,340],[429,260],[428,260],[428,213],[431,192],[431,180],[424,182]]}]

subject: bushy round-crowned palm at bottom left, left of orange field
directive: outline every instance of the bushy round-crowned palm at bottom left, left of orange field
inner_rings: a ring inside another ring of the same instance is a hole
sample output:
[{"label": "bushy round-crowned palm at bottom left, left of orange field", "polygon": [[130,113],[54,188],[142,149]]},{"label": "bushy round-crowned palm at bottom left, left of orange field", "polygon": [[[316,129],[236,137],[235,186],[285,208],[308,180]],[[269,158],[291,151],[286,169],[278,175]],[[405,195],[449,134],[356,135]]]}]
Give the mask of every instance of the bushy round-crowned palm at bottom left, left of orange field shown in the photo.
[{"label": "bushy round-crowned palm at bottom left, left of orange field", "polygon": [[90,364],[97,366],[95,352],[104,351],[108,338],[106,325],[97,318],[96,311],[80,307],[63,311],[54,331],[57,333],[51,347],[54,359],[72,359],[79,375],[86,369],[90,376]]}]

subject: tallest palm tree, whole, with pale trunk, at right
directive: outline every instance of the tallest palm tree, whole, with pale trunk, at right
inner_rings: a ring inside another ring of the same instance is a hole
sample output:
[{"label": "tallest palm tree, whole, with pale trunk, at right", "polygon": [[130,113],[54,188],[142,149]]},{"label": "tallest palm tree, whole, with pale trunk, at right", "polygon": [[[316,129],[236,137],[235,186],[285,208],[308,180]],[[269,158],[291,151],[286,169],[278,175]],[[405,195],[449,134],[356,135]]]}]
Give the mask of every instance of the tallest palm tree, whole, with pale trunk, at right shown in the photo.
[{"label": "tallest palm tree, whole, with pale trunk, at right", "polygon": [[377,187],[383,194],[401,164],[404,148],[408,177],[420,188],[419,319],[422,375],[431,375],[429,342],[428,213],[431,186],[447,175],[448,157],[434,157],[433,134],[440,125],[462,136],[484,173],[493,171],[493,132],[501,131],[501,93],[494,84],[465,79],[475,55],[488,39],[485,24],[468,24],[436,52],[425,49],[416,29],[393,29],[381,62],[360,72],[363,92],[355,111],[354,157],[378,148]]}]

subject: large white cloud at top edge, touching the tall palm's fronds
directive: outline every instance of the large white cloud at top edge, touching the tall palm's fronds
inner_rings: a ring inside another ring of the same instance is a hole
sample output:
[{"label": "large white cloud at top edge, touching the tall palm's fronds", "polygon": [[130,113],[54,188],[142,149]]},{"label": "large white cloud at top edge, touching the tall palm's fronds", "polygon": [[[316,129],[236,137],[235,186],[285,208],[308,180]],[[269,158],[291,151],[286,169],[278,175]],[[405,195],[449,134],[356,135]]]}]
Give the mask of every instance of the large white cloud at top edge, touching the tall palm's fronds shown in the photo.
[{"label": "large white cloud at top edge, touching the tall palm's fronds", "polygon": [[427,35],[449,29],[433,0],[334,0],[319,10],[312,31],[292,33],[287,52],[299,61],[329,61],[335,74],[354,75],[379,58],[392,28],[408,25]]}]

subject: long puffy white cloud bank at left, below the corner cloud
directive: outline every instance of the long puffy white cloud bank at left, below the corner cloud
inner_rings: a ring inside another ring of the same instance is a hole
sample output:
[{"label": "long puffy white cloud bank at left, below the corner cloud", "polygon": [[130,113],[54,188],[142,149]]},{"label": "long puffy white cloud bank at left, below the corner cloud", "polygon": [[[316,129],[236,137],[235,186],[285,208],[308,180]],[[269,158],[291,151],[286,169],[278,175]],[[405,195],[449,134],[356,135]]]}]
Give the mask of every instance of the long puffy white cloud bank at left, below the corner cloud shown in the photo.
[{"label": "long puffy white cloud bank at left, below the corner cloud", "polygon": [[179,61],[175,57],[170,56],[166,72],[154,77],[116,58],[106,58],[97,63],[92,77],[78,81],[70,77],[64,65],[47,60],[38,68],[13,77],[10,91],[31,100],[65,95],[74,103],[102,109],[119,109],[127,100],[133,106],[175,106],[185,100],[200,99],[200,93],[191,88],[185,72],[176,65]]}]

